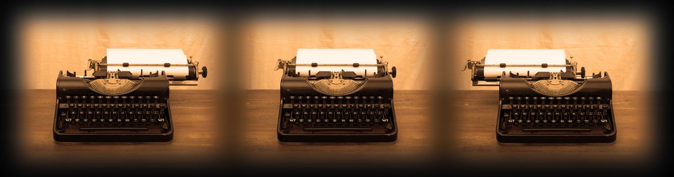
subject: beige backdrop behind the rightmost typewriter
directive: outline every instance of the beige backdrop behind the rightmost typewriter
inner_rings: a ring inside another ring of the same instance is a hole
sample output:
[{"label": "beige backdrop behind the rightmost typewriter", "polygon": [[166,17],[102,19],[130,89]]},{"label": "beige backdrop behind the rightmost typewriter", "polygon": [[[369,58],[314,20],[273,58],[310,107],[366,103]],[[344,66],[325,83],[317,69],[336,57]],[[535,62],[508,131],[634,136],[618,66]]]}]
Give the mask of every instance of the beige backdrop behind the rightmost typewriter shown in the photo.
[{"label": "beige backdrop behind the rightmost typewriter", "polygon": [[613,90],[648,89],[651,34],[646,17],[468,17],[451,35],[456,45],[452,66],[458,90],[473,87],[470,72],[458,72],[467,59],[480,60],[490,48],[565,49],[587,75],[608,71]]}]

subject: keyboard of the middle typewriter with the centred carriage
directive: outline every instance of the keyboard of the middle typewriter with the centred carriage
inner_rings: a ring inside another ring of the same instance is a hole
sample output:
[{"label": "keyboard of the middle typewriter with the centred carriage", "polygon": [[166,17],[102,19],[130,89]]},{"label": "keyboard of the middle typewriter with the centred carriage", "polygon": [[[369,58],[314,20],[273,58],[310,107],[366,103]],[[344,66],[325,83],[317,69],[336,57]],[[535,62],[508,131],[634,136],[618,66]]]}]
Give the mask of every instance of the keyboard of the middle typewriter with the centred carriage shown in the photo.
[{"label": "keyboard of the middle typewriter with the centred carriage", "polygon": [[390,133],[390,100],[381,96],[290,96],[280,122],[286,133]]}]

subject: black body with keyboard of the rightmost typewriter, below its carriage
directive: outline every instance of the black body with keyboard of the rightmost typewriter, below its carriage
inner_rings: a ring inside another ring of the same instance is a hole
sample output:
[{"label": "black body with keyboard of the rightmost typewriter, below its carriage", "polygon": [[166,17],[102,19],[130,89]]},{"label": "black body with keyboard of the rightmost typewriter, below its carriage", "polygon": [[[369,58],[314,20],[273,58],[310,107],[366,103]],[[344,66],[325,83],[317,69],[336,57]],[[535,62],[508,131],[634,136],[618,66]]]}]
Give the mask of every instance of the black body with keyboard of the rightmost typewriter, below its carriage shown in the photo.
[{"label": "black body with keyboard of the rightmost typewriter, below its carriage", "polygon": [[574,92],[537,92],[524,79],[502,78],[497,139],[503,143],[613,142],[611,80],[579,81]]}]

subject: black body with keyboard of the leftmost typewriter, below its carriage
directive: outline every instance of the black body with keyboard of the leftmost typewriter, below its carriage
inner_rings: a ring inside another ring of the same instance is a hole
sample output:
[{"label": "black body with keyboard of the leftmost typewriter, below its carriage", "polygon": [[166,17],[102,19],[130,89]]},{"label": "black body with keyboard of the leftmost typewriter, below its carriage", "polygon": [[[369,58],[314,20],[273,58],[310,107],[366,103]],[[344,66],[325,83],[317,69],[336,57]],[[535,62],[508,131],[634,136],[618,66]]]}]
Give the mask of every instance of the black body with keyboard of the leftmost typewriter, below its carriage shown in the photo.
[{"label": "black body with keyboard of the leftmost typewriter, below its carriage", "polygon": [[168,81],[148,77],[125,94],[105,94],[79,77],[59,76],[57,141],[171,141]]}]

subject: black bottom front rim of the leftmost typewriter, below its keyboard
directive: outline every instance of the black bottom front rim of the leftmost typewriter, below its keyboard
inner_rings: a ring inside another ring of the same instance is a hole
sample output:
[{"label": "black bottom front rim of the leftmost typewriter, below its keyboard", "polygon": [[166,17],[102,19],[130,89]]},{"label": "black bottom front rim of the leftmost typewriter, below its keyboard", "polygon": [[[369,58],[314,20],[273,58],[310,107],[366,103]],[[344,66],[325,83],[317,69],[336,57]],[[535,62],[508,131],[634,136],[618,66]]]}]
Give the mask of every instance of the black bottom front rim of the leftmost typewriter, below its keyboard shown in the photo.
[{"label": "black bottom front rim of the leftmost typewriter, below its keyboard", "polygon": [[167,142],[173,140],[173,132],[158,135],[139,134],[61,134],[54,132],[54,140],[61,142]]}]

